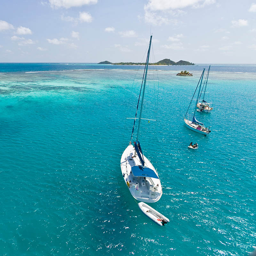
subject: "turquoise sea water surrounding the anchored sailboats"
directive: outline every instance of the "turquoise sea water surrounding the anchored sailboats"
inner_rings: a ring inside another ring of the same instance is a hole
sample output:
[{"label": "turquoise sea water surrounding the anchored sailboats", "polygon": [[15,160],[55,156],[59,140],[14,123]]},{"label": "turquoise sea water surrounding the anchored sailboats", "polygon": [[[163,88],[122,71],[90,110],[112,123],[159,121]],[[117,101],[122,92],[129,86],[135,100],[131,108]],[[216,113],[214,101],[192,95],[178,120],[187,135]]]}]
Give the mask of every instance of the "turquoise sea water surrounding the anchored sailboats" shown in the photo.
[{"label": "turquoise sea water surrounding the anchored sailboats", "polygon": [[[143,123],[140,138],[163,186],[152,206],[170,219],[158,227],[140,212],[120,170],[133,124],[125,118],[134,116],[138,99],[136,67],[73,71],[58,64],[56,72],[25,73],[19,64],[16,72],[1,65],[1,255],[254,250],[255,66],[211,66],[214,109],[196,113],[211,126],[207,137],[183,121],[207,65],[185,67],[193,77],[175,76],[184,67],[159,67],[157,122]],[[44,70],[34,66],[26,71]],[[152,109],[146,117],[155,117]],[[198,150],[187,148],[191,141]]]}]

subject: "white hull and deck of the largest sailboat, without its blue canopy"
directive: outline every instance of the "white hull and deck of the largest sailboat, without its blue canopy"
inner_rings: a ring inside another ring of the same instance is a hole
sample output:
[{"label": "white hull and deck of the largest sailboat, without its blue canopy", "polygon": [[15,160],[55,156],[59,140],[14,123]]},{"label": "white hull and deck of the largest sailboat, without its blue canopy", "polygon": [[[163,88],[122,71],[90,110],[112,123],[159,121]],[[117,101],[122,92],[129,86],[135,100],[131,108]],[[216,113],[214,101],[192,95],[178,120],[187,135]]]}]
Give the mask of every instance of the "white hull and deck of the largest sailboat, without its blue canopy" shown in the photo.
[{"label": "white hull and deck of the largest sailboat, without its blue canopy", "polygon": [[[153,170],[158,177],[158,174],[154,166],[149,162],[149,160],[144,157],[144,167],[148,167]],[[137,177],[132,173],[133,166],[140,166],[140,159],[138,155],[135,155],[135,148],[132,145],[129,145],[121,157],[121,171],[124,178],[124,182],[128,187],[132,196],[141,202],[145,203],[155,203],[157,202],[163,192],[160,179],[151,178],[151,177]],[[128,183],[127,183],[128,181]]]}]

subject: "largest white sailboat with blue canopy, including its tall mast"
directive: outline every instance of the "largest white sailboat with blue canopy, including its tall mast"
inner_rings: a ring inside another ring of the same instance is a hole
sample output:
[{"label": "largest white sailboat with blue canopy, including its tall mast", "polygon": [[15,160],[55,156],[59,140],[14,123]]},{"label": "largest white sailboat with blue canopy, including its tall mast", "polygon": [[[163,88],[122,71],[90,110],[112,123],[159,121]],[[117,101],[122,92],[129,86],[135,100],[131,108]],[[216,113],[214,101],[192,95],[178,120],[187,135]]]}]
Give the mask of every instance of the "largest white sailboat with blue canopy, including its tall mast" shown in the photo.
[{"label": "largest white sailboat with blue canopy, including its tall mast", "polygon": [[[138,128],[137,128],[137,138],[136,138],[136,141],[133,142],[134,145],[132,145],[132,136],[131,136],[129,146],[124,150],[124,153],[122,154],[122,157],[121,157],[121,171],[122,171],[124,181],[130,193],[135,199],[145,203],[157,202],[163,194],[161,182],[156,172],[156,169],[150,163],[147,157],[143,155],[140,142],[138,140],[140,123],[141,123],[141,119],[143,119],[141,118],[141,114],[142,114],[142,106],[143,106],[146,79],[147,79],[147,73],[148,73],[148,61],[149,61],[151,40],[152,40],[152,36],[150,36],[148,55],[147,55],[146,65],[145,65],[144,74],[142,78],[141,88],[140,88],[140,94],[142,91],[141,101],[140,101],[140,95],[139,95],[139,100],[138,100],[136,114],[135,114],[133,128],[132,128],[132,135],[133,135],[135,121],[136,119],[139,119]],[[137,118],[139,103],[141,104],[140,116],[139,118]]]}]

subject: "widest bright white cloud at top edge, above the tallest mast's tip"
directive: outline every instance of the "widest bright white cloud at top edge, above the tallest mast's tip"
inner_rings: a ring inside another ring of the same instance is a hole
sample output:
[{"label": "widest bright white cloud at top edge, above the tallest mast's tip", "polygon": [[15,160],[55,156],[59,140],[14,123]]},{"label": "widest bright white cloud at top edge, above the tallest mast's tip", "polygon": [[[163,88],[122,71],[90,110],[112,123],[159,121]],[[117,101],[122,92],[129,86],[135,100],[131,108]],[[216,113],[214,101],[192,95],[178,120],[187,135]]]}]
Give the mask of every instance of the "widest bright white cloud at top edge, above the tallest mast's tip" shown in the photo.
[{"label": "widest bright white cloud at top edge, above the tallest mast's tip", "polygon": [[202,7],[206,4],[213,3],[215,3],[215,0],[149,0],[148,4],[145,5],[144,9],[151,11],[166,11],[182,9],[188,6]]}]

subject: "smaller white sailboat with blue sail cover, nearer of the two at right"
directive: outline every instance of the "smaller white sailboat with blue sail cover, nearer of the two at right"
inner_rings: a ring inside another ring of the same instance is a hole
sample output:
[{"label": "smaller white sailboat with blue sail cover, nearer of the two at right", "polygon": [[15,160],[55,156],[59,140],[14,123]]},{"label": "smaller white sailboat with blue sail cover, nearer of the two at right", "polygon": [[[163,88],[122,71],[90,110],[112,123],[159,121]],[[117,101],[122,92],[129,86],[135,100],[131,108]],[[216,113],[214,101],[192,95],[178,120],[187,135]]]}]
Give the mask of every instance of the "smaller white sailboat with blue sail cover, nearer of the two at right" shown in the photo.
[{"label": "smaller white sailboat with blue sail cover, nearer of the two at right", "polygon": [[[204,69],[204,70],[205,70],[205,69]],[[187,114],[188,114],[188,110],[187,110],[187,112],[186,112],[186,114],[185,114],[185,117],[184,117],[184,122],[185,122],[186,126],[188,127],[188,129],[190,129],[190,130],[192,130],[192,131],[194,131],[194,132],[198,132],[198,133],[207,135],[207,134],[209,134],[211,131],[209,130],[209,128],[205,127],[203,123],[197,121],[197,120],[196,120],[196,117],[195,117],[197,102],[198,102],[198,99],[199,99],[199,94],[200,94],[200,92],[201,92],[201,86],[202,86],[202,81],[203,81],[203,76],[204,76],[204,70],[203,70],[203,73],[202,73],[202,75],[201,75],[201,77],[200,77],[200,79],[199,79],[199,82],[198,82],[197,86],[196,86],[196,90],[197,90],[197,87],[198,87],[198,85],[199,85],[199,83],[200,83],[199,90],[198,90],[198,95],[197,95],[197,100],[196,100],[196,105],[195,105],[195,109],[194,109],[194,116],[193,116],[193,119],[192,119],[192,121],[186,119],[186,116],[187,116]],[[195,90],[195,92],[194,92],[194,95],[195,95],[195,93],[196,93],[196,90]],[[190,103],[189,103],[188,109],[189,109],[189,107],[190,107],[190,105],[191,105],[191,102],[192,102],[192,100],[193,100],[193,98],[194,98],[194,95],[193,95],[193,97],[192,97],[192,99],[191,99],[191,101],[190,101]]]}]

